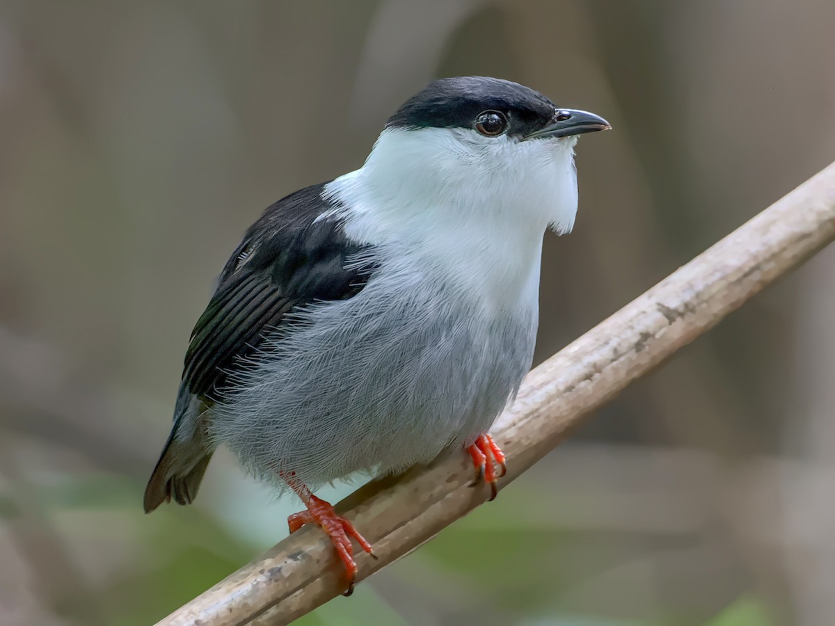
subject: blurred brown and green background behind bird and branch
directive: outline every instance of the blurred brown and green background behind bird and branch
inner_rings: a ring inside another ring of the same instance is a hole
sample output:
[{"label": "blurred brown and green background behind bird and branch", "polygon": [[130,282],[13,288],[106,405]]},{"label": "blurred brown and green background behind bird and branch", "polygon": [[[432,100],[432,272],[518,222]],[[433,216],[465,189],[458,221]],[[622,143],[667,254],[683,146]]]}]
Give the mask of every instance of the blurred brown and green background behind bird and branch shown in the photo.
[{"label": "blurred brown and green background behind bird and branch", "polygon": [[[142,513],[189,332],[261,210],[430,79],[615,127],[547,235],[540,361],[835,158],[833,32],[831,0],[3,0],[0,623],[152,623],[286,534],[228,454]],[[824,250],[300,623],[832,623],[832,321]]]}]

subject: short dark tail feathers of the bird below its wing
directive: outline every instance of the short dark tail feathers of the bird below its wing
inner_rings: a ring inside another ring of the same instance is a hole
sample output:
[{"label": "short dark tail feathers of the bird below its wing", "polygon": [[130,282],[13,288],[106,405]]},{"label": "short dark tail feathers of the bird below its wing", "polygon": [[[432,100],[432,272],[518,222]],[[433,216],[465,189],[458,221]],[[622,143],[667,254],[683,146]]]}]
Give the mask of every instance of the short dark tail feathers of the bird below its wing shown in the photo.
[{"label": "short dark tail feathers of the bird below its wing", "polygon": [[190,504],[197,495],[211,455],[199,442],[176,441],[172,432],[145,487],[145,512],[172,498],[178,504]]}]

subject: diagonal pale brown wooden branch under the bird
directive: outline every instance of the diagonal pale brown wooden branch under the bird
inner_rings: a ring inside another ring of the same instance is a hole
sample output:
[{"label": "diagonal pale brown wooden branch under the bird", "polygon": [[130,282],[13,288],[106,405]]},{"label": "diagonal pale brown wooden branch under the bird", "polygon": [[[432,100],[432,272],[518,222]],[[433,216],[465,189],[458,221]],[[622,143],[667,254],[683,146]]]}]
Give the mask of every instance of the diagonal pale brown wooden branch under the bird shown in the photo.
[{"label": "diagonal pale brown wooden branch under the bird", "polygon": [[[493,426],[508,456],[499,486],[553,450],[589,411],[833,239],[835,164],[531,371],[514,406]],[[484,502],[489,490],[468,488],[472,477],[467,455],[455,452],[372,482],[340,502],[337,510],[356,523],[379,557],[358,554],[358,580]],[[341,576],[324,533],[302,528],[159,624],[289,623],[340,593]]]}]

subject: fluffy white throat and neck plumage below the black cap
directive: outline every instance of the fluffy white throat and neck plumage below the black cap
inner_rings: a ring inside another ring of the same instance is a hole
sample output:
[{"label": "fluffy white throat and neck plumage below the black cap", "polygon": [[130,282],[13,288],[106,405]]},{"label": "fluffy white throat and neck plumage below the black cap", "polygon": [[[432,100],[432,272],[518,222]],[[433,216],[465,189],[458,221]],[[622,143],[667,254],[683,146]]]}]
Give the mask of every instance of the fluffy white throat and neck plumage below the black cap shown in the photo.
[{"label": "fluffy white throat and neck plumage below the black cap", "polygon": [[505,309],[533,300],[544,231],[574,225],[576,138],[386,129],[361,169],[326,186],[353,240],[438,271]]}]

